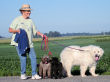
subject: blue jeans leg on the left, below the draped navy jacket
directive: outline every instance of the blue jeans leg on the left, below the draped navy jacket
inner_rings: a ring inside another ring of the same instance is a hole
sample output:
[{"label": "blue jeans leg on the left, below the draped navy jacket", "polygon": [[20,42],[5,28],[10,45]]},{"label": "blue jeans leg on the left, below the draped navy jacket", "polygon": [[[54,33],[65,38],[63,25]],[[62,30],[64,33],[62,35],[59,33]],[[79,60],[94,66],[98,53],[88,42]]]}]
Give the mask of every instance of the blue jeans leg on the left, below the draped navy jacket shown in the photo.
[{"label": "blue jeans leg on the left, below the draped navy jacket", "polygon": [[20,63],[21,63],[21,74],[25,74],[26,73],[26,56],[21,56],[21,54],[19,53],[18,47],[16,47],[18,56],[20,58]]}]

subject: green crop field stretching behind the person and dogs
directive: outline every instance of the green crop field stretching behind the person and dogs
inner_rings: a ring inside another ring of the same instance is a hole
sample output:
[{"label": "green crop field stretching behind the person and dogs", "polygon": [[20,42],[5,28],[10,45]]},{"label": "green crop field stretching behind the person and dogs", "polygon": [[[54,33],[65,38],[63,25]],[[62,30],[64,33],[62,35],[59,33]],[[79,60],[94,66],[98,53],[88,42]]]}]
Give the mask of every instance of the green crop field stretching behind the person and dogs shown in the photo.
[{"label": "green crop field stretching behind the person and dogs", "polygon": [[[37,54],[37,63],[41,61],[41,57],[46,55],[48,51],[41,50],[41,39],[33,39],[34,48]],[[58,44],[54,43],[57,42]],[[10,39],[0,40],[0,76],[20,75],[20,62],[14,46],[10,46]],[[69,45],[97,45],[104,49],[104,55],[98,62],[96,72],[102,75],[110,75],[110,36],[71,36],[49,38],[49,50],[52,56],[59,58],[59,54],[64,46]],[[72,70],[73,74],[79,74],[79,67]],[[31,75],[31,64],[27,55],[27,75]]]}]

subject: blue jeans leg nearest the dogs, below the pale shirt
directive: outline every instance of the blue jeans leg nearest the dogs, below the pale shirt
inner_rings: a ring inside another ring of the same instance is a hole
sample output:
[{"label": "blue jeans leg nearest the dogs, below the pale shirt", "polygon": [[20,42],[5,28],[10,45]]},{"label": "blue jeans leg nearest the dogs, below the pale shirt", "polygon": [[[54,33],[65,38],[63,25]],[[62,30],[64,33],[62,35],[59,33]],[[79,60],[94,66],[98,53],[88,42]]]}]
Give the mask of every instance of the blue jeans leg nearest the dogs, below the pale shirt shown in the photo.
[{"label": "blue jeans leg nearest the dogs, below the pale shirt", "polygon": [[30,48],[29,57],[31,59],[32,75],[35,75],[37,74],[36,72],[37,60],[36,60],[36,54],[34,48]]}]

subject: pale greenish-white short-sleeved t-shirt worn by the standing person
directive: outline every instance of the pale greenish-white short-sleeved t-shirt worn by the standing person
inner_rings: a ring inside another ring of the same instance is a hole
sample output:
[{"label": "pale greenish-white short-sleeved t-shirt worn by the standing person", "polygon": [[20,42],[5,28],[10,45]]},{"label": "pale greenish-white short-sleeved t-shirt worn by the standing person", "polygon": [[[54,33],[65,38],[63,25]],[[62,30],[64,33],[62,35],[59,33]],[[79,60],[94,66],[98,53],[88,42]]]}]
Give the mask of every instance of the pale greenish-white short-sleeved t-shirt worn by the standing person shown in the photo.
[{"label": "pale greenish-white short-sleeved t-shirt worn by the standing person", "polygon": [[[36,35],[38,30],[36,30],[35,24],[30,18],[24,19],[23,16],[19,16],[15,18],[15,20],[11,23],[10,28],[15,29],[15,30],[18,30],[20,28],[24,29],[29,39],[29,46],[30,48],[33,47],[32,38],[33,38],[33,35]],[[18,44],[14,41],[15,35],[16,34],[12,35],[11,45],[18,46]]]}]

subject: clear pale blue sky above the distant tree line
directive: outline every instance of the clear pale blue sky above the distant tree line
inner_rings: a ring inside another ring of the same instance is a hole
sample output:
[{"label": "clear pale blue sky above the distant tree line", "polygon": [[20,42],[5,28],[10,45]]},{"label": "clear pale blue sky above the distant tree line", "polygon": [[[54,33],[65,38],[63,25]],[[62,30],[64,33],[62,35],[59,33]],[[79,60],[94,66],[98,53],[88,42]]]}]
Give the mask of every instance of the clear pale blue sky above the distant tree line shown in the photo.
[{"label": "clear pale blue sky above the distant tree line", "polygon": [[22,4],[31,5],[31,18],[42,33],[110,31],[110,0],[0,0],[0,35],[11,36],[8,28]]}]

